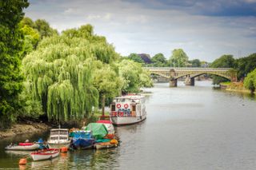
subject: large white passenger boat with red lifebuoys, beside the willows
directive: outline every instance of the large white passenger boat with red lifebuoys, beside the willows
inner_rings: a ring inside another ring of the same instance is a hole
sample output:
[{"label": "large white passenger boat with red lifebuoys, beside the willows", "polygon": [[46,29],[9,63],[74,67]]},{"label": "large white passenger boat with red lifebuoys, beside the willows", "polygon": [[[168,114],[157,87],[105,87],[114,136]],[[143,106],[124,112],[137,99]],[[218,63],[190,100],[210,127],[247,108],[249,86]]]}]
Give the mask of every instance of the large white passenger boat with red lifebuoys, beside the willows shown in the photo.
[{"label": "large white passenger boat with red lifebuoys, beside the willows", "polygon": [[146,119],[145,97],[139,94],[115,97],[110,108],[113,125],[132,125]]}]

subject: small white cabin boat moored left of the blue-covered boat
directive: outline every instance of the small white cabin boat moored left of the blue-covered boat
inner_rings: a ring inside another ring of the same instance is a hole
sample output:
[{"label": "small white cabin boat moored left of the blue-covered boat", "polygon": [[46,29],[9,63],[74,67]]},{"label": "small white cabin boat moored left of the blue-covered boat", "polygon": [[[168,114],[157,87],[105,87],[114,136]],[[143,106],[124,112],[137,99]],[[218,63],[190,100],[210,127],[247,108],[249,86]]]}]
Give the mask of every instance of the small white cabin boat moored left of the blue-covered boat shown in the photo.
[{"label": "small white cabin boat moored left of the blue-covered boat", "polygon": [[50,130],[49,148],[70,147],[69,130],[67,128],[53,128]]}]

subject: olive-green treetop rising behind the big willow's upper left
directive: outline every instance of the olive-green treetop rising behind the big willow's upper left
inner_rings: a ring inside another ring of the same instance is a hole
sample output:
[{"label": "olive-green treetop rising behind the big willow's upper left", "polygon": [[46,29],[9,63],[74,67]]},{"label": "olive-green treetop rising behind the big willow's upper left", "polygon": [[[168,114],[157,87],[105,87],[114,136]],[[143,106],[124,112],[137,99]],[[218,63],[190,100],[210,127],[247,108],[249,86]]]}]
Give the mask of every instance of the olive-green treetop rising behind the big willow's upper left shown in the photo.
[{"label": "olive-green treetop rising behind the big willow's upper left", "polygon": [[38,30],[40,34],[40,38],[51,37],[54,35],[58,35],[58,31],[54,30],[50,27],[49,23],[44,19],[38,19],[34,22],[35,29]]}]

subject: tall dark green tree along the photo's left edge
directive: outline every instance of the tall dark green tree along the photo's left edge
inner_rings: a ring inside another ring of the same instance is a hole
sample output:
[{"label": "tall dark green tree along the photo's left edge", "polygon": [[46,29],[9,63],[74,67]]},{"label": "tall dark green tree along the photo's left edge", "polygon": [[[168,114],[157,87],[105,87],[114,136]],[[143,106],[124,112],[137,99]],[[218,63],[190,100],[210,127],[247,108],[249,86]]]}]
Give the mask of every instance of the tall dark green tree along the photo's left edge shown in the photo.
[{"label": "tall dark green tree along the photo's left edge", "polygon": [[22,92],[23,77],[20,73],[22,31],[18,23],[22,10],[29,6],[26,0],[0,2],[0,128],[14,121],[19,108],[18,94]]}]

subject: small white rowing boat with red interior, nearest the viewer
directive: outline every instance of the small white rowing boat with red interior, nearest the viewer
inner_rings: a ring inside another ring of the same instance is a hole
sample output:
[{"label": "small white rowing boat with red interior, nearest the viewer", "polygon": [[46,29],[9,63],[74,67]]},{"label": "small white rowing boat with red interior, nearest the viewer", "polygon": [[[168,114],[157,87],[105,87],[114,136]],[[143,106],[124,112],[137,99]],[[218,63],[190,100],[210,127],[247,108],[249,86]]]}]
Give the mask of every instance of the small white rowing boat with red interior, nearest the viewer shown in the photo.
[{"label": "small white rowing boat with red interior, nearest the viewer", "polygon": [[38,152],[30,153],[33,160],[49,160],[59,155],[58,148],[48,148]]}]

